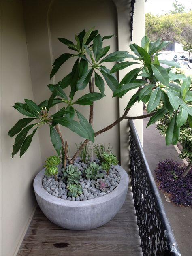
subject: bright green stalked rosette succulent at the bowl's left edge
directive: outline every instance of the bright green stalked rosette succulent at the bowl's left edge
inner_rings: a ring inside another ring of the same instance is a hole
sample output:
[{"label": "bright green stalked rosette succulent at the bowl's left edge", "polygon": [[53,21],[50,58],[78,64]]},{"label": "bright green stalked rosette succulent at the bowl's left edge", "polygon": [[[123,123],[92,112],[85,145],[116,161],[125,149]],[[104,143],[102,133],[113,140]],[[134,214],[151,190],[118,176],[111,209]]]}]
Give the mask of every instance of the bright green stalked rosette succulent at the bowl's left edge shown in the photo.
[{"label": "bright green stalked rosette succulent at the bowl's left edge", "polygon": [[60,163],[60,159],[57,156],[49,156],[45,161],[45,175],[55,176],[55,181],[57,181],[57,174],[58,174],[58,164]]}]

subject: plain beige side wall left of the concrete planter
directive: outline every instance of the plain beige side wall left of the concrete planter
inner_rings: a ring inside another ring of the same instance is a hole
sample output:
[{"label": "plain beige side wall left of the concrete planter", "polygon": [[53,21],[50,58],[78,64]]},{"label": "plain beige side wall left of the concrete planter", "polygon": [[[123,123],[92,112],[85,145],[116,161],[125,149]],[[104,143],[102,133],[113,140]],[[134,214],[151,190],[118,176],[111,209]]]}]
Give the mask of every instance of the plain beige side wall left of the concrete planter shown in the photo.
[{"label": "plain beige side wall left of the concrete planter", "polygon": [[33,179],[42,167],[38,134],[28,151],[11,159],[14,139],[8,130],[23,118],[13,106],[33,99],[21,1],[1,1],[0,42],[0,196],[1,256],[12,256],[36,205]]}]

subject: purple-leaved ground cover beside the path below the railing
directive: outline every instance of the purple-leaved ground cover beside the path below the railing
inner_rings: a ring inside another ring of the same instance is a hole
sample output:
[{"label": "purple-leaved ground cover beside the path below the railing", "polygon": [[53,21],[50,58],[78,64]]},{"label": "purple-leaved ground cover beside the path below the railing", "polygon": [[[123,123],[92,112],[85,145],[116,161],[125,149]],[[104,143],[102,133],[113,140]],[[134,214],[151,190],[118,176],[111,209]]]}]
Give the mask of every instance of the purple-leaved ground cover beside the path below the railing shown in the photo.
[{"label": "purple-leaved ground cover beside the path below the railing", "polygon": [[166,159],[158,163],[155,177],[158,188],[169,194],[173,203],[192,207],[192,168],[186,177],[182,177],[184,169],[173,159]]}]

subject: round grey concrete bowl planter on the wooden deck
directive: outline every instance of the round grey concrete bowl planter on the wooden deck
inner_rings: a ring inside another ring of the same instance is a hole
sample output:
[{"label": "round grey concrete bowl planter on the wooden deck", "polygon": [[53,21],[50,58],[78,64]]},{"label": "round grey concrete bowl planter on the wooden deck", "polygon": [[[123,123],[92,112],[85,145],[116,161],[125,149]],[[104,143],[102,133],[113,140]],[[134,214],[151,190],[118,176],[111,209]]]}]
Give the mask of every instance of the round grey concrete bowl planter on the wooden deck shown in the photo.
[{"label": "round grey concrete bowl planter on the wooden deck", "polygon": [[119,186],[109,194],[86,201],[68,201],[52,196],[42,185],[45,169],[34,179],[34,191],[45,216],[58,226],[70,230],[89,230],[109,222],[121,209],[127,194],[128,175],[119,165]]}]

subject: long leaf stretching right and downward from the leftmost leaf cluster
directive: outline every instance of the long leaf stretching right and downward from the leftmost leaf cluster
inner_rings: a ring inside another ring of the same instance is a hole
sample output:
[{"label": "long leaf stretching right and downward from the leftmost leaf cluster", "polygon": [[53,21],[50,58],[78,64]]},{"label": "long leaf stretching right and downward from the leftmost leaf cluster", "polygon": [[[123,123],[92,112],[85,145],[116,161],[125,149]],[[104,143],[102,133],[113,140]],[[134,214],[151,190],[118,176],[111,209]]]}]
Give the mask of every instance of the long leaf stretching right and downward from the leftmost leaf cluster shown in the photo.
[{"label": "long leaf stretching right and downward from the leftmost leaf cluster", "polygon": [[68,117],[58,117],[58,118],[53,118],[53,120],[58,123],[61,124],[62,126],[65,126],[67,128],[69,128],[72,132],[77,133],[79,136],[89,139],[87,132],[85,131],[85,129],[81,126],[81,124],[79,124],[77,121],[70,119]]}]

